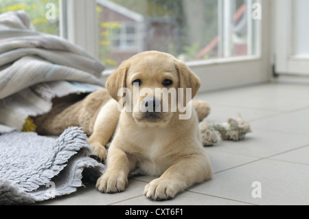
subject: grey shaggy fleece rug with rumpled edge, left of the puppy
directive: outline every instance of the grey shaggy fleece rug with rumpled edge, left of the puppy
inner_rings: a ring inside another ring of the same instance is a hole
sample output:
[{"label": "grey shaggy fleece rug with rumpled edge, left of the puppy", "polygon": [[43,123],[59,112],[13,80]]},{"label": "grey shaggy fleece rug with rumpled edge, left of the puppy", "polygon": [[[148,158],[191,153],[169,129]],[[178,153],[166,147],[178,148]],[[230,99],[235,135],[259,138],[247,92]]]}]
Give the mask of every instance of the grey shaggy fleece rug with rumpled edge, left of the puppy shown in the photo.
[{"label": "grey shaggy fleece rug with rumpled edge, left of the puppy", "polygon": [[96,181],[104,172],[104,165],[89,157],[87,136],[77,127],[58,139],[34,132],[0,135],[0,151],[0,205],[71,194],[82,178]]}]

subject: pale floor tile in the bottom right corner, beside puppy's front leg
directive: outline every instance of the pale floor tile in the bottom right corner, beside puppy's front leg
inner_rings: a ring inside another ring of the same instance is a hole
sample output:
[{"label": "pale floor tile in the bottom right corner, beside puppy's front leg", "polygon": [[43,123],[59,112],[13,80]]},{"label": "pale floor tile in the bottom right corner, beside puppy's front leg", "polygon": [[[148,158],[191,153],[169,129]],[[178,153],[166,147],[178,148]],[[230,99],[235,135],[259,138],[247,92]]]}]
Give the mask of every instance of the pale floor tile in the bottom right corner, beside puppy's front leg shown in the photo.
[{"label": "pale floor tile in the bottom right corner, beside puppy's front leg", "polygon": [[[309,165],[263,159],[214,174],[190,191],[257,205],[309,205],[308,172]],[[261,183],[261,198],[254,198],[254,182]]]}]

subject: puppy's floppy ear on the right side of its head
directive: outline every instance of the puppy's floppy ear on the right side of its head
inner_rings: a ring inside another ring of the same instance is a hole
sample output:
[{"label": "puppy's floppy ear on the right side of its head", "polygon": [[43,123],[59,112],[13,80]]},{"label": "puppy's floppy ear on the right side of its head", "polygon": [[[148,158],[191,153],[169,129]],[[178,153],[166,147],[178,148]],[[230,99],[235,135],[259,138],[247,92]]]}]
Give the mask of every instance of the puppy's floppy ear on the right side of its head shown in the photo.
[{"label": "puppy's floppy ear on the right side of its head", "polygon": [[[198,89],[201,87],[201,80],[196,76],[196,74],[185,65],[185,62],[181,60],[175,61],[175,67],[179,75],[179,87],[183,88],[183,98],[186,98],[186,89],[192,89],[192,97],[195,97],[198,93]],[[185,102],[189,102],[186,100]]]}]

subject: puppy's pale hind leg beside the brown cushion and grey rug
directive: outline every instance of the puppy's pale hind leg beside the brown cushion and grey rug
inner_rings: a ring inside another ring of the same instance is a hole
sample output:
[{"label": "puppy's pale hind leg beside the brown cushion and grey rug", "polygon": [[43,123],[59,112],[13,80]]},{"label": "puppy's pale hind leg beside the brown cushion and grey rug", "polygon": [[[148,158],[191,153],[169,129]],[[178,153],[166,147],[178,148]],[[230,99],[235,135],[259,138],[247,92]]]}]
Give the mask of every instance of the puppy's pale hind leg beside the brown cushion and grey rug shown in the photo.
[{"label": "puppy's pale hind leg beside the brown cushion and grey rug", "polygon": [[93,152],[101,161],[106,159],[107,151],[105,145],[115,132],[119,115],[117,102],[111,99],[102,106],[98,117],[95,119],[93,133],[89,137],[89,144],[93,147]]}]

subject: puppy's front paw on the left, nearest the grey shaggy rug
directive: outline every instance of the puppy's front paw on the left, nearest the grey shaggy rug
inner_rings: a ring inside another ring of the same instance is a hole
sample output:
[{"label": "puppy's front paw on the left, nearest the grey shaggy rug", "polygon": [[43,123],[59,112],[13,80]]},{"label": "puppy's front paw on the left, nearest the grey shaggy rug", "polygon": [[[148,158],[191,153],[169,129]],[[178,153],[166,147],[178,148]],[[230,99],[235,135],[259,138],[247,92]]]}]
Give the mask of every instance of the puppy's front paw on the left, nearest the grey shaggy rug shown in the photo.
[{"label": "puppy's front paw on the left, nearest the grey shaggy rug", "polygon": [[105,193],[115,193],[124,191],[128,177],[122,172],[105,172],[98,178],[95,187]]}]

